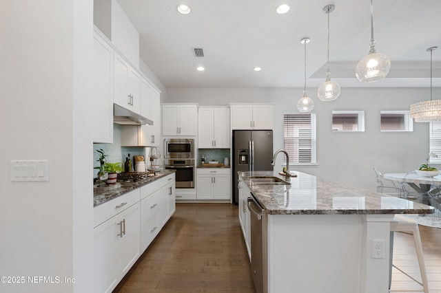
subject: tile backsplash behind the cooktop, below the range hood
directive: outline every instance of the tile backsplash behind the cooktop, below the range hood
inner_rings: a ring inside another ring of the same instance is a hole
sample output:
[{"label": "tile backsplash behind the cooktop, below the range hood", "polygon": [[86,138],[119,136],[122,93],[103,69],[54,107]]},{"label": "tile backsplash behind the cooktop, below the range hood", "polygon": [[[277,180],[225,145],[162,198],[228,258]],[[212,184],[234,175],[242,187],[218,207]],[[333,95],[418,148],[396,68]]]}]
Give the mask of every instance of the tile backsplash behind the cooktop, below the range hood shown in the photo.
[{"label": "tile backsplash behind the cooktop, below the range hood", "polygon": [[[99,153],[96,153],[97,149],[103,149],[104,153],[108,155],[106,157],[107,162],[121,162],[122,164],[125,162],[125,158],[130,154],[130,159],[133,164],[133,156],[134,155],[144,155],[147,158],[145,153],[145,148],[143,147],[125,147],[121,146],[121,127],[119,124],[113,124],[113,143],[112,144],[94,144],[94,167],[99,166]],[[94,169],[94,177],[96,177],[98,173],[97,169]]]}]

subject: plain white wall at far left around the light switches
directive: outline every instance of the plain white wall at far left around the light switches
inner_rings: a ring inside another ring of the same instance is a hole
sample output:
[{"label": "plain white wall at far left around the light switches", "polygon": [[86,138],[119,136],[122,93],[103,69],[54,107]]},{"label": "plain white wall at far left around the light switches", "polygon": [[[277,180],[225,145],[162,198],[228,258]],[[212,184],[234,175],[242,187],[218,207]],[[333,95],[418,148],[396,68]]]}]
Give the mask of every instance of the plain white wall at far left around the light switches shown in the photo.
[{"label": "plain white wall at far left around the light switches", "polygon": [[[26,278],[0,291],[90,292],[92,1],[6,0],[0,19],[0,275]],[[48,160],[49,182],[12,183],[10,160]]]}]

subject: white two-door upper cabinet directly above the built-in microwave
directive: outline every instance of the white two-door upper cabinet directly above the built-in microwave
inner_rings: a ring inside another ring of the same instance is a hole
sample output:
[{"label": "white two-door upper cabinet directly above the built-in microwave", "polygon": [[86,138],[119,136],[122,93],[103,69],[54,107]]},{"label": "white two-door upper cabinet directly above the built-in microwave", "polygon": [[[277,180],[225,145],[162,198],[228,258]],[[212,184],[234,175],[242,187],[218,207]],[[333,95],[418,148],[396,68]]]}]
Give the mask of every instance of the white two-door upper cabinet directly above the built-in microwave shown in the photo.
[{"label": "white two-door upper cabinet directly above the built-in microwave", "polygon": [[196,104],[164,104],[162,109],[164,136],[196,136],[198,107]]}]

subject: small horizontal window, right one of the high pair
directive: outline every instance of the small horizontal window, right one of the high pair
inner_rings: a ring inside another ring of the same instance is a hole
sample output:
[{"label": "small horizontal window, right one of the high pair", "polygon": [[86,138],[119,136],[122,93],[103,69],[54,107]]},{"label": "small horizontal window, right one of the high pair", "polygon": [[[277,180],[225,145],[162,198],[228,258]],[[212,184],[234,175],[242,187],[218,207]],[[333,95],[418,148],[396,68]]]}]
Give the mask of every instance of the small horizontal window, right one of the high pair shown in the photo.
[{"label": "small horizontal window, right one of the high pair", "polygon": [[410,111],[380,111],[380,131],[413,131]]}]

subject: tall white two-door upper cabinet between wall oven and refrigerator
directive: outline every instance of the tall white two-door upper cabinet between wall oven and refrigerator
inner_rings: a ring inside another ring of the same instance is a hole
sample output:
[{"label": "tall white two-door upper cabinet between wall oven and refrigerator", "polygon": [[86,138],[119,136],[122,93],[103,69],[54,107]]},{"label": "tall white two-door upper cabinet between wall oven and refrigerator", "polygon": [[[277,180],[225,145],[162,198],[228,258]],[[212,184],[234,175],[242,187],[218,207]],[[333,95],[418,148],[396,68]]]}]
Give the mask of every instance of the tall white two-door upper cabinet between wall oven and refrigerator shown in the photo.
[{"label": "tall white two-door upper cabinet between wall oven and refrigerator", "polygon": [[229,149],[229,136],[228,108],[199,108],[199,149]]}]

